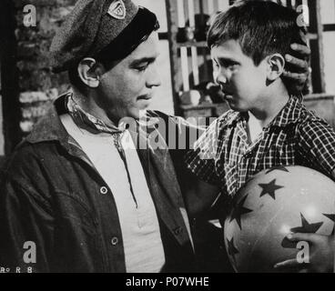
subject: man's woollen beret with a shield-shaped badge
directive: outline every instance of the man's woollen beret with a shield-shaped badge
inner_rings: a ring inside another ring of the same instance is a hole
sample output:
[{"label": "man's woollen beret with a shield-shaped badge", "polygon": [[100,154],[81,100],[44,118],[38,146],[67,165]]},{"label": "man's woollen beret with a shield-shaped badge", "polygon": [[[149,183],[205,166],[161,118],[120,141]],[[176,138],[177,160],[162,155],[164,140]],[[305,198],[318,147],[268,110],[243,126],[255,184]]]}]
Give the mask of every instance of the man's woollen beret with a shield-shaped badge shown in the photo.
[{"label": "man's woollen beret with a shield-shaped badge", "polygon": [[66,71],[81,59],[99,54],[136,18],[138,9],[131,0],[77,1],[50,46],[53,72]]}]

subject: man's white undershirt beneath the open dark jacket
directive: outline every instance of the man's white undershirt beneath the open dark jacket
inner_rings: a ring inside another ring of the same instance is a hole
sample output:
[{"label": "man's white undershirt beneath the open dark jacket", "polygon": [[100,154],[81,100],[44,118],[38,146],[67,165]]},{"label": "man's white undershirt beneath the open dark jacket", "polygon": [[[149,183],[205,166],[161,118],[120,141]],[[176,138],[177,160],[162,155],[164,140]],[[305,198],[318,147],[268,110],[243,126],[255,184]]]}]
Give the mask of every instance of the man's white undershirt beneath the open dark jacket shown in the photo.
[{"label": "man's white undershirt beneath the open dark jacket", "polygon": [[70,115],[61,115],[60,118],[67,133],[81,146],[113,193],[121,225],[127,272],[159,272],[165,264],[165,255],[156,208],[131,135],[125,131],[121,144],[125,150],[137,204],[113,137],[105,133],[95,135],[79,128]]}]

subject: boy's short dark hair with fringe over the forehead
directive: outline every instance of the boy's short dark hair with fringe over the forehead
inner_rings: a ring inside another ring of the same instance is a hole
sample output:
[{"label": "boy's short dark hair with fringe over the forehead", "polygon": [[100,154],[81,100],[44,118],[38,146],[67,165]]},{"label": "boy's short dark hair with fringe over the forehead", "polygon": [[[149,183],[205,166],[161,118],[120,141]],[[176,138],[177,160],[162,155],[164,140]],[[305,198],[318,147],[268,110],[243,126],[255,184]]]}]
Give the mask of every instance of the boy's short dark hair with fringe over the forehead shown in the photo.
[{"label": "boy's short dark hair with fringe over the forehead", "polygon": [[306,45],[300,35],[306,29],[299,27],[298,17],[293,9],[270,1],[240,1],[216,16],[208,31],[208,47],[237,40],[255,65],[267,55],[295,55],[291,44]]}]

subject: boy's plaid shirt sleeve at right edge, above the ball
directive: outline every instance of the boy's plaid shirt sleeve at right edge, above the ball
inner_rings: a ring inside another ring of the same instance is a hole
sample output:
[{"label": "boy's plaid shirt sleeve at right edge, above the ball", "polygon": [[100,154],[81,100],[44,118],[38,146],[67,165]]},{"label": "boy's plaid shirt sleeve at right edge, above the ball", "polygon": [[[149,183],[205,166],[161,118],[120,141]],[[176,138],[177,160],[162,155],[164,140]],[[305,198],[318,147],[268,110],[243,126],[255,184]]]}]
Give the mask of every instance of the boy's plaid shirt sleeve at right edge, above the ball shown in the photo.
[{"label": "boy's plaid shirt sleeve at right edge, above the ball", "polygon": [[313,120],[299,126],[299,150],[306,160],[327,176],[334,176],[335,132],[322,120]]}]

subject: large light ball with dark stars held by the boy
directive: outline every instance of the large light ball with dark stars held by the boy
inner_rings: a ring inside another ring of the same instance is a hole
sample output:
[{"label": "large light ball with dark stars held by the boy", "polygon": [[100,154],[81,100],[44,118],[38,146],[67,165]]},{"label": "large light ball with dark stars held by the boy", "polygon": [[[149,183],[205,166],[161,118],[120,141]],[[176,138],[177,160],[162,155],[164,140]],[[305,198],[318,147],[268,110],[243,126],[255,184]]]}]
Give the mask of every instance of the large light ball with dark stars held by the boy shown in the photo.
[{"label": "large light ball with dark stars held by the boy", "polygon": [[224,240],[236,272],[276,272],[297,256],[291,233],[334,232],[335,183],[302,166],[260,172],[243,186],[225,220]]}]

